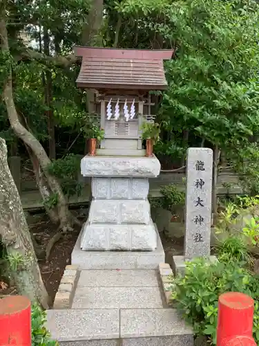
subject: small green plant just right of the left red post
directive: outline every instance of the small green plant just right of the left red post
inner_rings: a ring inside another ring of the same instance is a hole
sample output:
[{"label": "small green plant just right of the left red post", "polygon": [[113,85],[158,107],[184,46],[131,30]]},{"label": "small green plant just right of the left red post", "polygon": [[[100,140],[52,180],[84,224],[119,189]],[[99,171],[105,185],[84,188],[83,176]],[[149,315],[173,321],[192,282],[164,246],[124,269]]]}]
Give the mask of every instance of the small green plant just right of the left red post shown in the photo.
[{"label": "small green plant just right of the left red post", "polygon": [[57,346],[57,341],[50,339],[50,333],[46,329],[46,311],[38,305],[32,305],[32,346]]}]

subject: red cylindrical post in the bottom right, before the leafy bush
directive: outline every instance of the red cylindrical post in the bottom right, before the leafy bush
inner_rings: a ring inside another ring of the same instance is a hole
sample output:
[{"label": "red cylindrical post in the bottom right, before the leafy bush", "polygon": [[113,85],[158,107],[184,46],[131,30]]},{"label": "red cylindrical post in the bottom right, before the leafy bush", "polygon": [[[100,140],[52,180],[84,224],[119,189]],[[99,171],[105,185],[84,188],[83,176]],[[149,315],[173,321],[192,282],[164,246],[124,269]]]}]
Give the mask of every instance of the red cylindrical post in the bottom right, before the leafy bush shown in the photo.
[{"label": "red cylindrical post in the bottom right, before the leafy bush", "polygon": [[[218,300],[217,346],[242,345],[233,343],[237,336],[253,336],[253,299],[244,293],[223,293]],[[232,344],[226,344],[227,340]]]}]

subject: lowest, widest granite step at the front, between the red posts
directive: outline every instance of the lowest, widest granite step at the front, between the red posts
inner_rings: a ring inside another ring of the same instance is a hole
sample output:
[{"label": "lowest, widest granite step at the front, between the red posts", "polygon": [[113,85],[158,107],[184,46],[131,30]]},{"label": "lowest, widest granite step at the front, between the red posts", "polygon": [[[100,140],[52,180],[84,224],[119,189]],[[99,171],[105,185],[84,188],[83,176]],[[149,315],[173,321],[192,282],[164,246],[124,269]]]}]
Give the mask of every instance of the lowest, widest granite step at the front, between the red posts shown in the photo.
[{"label": "lowest, widest granite step at the front, between the red posts", "polygon": [[193,346],[175,309],[49,310],[52,338],[66,346]]}]

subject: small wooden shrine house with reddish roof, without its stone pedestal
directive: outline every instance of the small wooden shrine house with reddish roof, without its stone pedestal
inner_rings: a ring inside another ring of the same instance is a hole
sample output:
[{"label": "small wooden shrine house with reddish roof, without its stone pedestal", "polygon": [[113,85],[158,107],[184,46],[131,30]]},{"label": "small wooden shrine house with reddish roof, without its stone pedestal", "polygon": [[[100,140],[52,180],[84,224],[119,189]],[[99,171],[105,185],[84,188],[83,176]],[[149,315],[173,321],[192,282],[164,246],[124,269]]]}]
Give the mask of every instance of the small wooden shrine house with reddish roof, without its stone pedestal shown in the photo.
[{"label": "small wooden shrine house with reddish roof, without its stone pedestal", "polygon": [[155,120],[150,91],[166,89],[163,60],[173,51],[77,46],[75,55],[82,57],[77,86],[95,90],[95,113],[105,131],[99,154],[136,154],[142,122]]}]

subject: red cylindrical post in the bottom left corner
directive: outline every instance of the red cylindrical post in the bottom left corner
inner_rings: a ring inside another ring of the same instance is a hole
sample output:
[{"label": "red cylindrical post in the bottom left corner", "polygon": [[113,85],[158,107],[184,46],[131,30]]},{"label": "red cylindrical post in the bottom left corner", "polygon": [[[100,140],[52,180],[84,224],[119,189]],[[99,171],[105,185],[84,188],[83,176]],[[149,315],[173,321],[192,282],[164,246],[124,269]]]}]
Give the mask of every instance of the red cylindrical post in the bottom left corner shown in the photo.
[{"label": "red cylindrical post in the bottom left corner", "polygon": [[21,295],[0,299],[0,346],[31,346],[30,300]]}]

